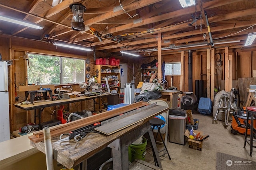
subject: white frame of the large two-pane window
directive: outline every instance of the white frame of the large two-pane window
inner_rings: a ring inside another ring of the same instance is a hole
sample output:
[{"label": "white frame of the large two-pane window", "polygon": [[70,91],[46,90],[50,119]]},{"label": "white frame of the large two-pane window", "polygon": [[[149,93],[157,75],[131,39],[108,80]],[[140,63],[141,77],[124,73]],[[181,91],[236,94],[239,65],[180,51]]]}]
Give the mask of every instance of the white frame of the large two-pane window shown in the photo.
[{"label": "white frame of the large two-pane window", "polygon": [[[60,58],[60,84],[54,84],[54,85],[79,84],[79,82],[63,83],[63,69],[62,69],[63,63],[62,63],[62,59],[65,58],[65,59],[82,60],[82,61],[84,61],[84,82],[86,82],[86,59],[81,59],[81,58],[76,58],[76,57],[68,57],[68,56],[60,56],[60,55],[52,55],[52,54],[44,54],[44,53],[27,52],[27,55],[30,55],[30,54],[32,54],[32,55],[45,55],[45,56],[49,56],[49,57],[59,57]],[[27,64],[28,64],[28,61],[27,61]],[[30,69],[30,68],[27,67],[27,69],[26,69],[27,76],[28,76],[28,69]]]}]

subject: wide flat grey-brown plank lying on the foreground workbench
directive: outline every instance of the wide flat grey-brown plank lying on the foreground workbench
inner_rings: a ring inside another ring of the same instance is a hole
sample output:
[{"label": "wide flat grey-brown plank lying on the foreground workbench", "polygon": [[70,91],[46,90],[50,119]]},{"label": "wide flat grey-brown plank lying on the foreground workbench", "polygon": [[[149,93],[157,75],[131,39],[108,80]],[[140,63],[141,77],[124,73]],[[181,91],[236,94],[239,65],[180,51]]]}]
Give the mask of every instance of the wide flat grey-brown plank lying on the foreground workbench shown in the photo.
[{"label": "wide flat grey-brown plank lying on the foreground workbench", "polygon": [[152,117],[153,114],[158,114],[162,111],[167,111],[169,107],[165,106],[154,106],[152,108],[144,109],[143,111],[140,111],[137,114],[124,117],[123,119],[114,121],[112,123],[108,123],[106,125],[96,127],[95,130],[99,131],[101,133],[104,133],[106,135],[111,135],[117,131],[120,131],[130,125],[133,125],[135,123],[138,123],[139,121],[148,119],[149,117]]}]

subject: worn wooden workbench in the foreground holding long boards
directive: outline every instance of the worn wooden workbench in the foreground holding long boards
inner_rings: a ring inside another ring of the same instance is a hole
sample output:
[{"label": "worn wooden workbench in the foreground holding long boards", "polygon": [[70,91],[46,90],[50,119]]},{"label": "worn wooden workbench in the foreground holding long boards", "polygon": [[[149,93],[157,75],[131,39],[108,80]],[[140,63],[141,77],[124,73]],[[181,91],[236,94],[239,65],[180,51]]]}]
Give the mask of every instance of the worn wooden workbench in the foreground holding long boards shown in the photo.
[{"label": "worn wooden workbench in the foreground holding long boards", "polygon": [[[60,141],[59,137],[53,137],[52,149],[54,159],[70,169],[111,144],[110,147],[112,148],[114,169],[128,170],[128,146],[144,135],[151,144],[157,166],[162,167],[149,120],[156,115],[167,111],[169,108],[158,105],[154,105],[153,107],[158,111],[152,111],[150,116],[147,116],[141,121],[136,121],[137,123],[127,126],[112,135],[89,133],[79,142],[74,141],[74,139]],[[139,111],[136,114],[144,113]],[[115,126],[115,122],[111,123]],[[44,142],[34,143],[31,141],[30,143],[33,147],[45,153]]]}]

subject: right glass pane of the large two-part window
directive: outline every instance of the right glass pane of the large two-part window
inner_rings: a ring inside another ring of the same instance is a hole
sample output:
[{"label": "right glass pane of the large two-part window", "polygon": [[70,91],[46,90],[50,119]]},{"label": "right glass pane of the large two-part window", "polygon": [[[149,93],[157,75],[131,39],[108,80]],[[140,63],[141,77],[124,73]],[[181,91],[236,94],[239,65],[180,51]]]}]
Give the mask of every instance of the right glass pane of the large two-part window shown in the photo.
[{"label": "right glass pane of the large two-part window", "polygon": [[81,59],[62,58],[62,83],[85,82],[85,63]]}]

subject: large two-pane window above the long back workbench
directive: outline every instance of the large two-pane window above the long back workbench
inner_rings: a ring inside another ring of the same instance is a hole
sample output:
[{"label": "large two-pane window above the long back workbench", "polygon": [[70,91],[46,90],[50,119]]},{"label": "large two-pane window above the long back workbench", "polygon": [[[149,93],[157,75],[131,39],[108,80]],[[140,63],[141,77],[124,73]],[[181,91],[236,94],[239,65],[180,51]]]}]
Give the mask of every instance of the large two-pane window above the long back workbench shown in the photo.
[{"label": "large two-pane window above the long back workbench", "polygon": [[28,84],[85,82],[85,61],[28,53]]}]

